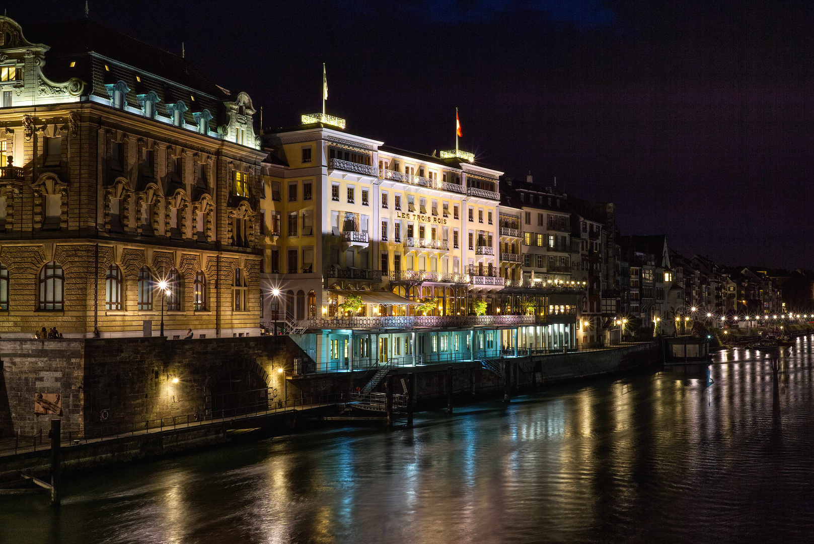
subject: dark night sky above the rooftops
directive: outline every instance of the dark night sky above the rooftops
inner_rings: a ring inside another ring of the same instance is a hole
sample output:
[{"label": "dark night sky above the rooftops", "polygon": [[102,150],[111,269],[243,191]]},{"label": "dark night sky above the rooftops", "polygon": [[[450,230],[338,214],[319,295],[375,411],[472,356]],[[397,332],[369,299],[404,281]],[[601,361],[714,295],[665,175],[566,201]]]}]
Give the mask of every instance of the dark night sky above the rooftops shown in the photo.
[{"label": "dark night sky above the rooftops", "polygon": [[[15,2],[7,15],[72,20],[84,5]],[[213,81],[263,106],[265,128],[319,111],[326,62],[327,112],[355,134],[449,149],[457,106],[463,149],[615,202],[624,234],[791,268],[814,267],[812,10],[777,0],[90,2],[91,19],[121,32],[177,53],[185,42]]]}]

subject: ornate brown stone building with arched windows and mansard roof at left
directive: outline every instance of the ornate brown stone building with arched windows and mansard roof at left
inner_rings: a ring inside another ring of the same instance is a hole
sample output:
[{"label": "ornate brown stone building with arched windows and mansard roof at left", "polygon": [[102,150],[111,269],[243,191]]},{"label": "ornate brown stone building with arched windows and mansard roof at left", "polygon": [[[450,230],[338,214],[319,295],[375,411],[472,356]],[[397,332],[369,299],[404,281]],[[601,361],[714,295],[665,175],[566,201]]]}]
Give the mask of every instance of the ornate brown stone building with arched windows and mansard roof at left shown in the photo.
[{"label": "ornate brown stone building with arched windows and mansard roof at left", "polygon": [[0,17],[0,97],[2,337],[157,335],[162,309],[167,336],[258,331],[247,94],[90,20]]}]

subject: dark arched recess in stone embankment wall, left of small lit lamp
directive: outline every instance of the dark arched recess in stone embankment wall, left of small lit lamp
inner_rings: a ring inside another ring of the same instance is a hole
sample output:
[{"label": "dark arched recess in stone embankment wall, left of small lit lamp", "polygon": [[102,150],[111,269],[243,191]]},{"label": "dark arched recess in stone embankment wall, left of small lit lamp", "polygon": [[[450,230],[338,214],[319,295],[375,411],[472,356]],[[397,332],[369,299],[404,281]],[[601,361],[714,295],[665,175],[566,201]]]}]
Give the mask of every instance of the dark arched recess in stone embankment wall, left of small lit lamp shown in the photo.
[{"label": "dark arched recess in stone embankment wall, left of small lit lamp", "polygon": [[207,381],[207,410],[212,417],[251,414],[266,410],[274,389],[256,364],[222,368]]}]

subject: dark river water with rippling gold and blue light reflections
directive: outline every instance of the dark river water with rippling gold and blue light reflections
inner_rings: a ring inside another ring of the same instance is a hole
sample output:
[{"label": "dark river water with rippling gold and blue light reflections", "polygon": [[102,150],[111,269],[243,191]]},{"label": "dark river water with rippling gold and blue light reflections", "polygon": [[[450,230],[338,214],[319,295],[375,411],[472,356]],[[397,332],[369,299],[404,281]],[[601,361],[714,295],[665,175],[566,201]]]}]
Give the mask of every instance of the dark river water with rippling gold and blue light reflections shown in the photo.
[{"label": "dark river water with rippling gold and blue light reflections", "polygon": [[812,337],[67,478],[0,542],[812,542]]}]

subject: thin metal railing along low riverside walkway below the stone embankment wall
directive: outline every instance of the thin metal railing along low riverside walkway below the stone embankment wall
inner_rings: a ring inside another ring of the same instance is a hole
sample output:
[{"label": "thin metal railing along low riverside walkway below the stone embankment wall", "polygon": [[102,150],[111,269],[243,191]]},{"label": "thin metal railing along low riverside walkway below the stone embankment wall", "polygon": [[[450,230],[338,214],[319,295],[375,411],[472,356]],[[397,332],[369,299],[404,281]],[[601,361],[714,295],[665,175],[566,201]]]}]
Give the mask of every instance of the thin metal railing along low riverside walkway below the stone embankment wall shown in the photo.
[{"label": "thin metal railing along low riverside walkway below the stone embankment wall", "polygon": [[[223,410],[202,410],[192,414],[173,415],[164,418],[142,419],[133,423],[106,423],[94,425],[84,431],[63,429],[62,447],[87,444],[95,441],[133,437],[141,434],[174,431],[179,428],[195,428],[212,423],[225,423],[280,412],[331,406],[348,402],[347,393],[326,393],[313,397],[300,397],[290,400],[267,398],[262,401]],[[50,438],[44,437],[42,430],[33,435],[15,433],[14,437],[0,440],[0,455],[19,454],[27,451],[45,450],[50,447]]]}]

